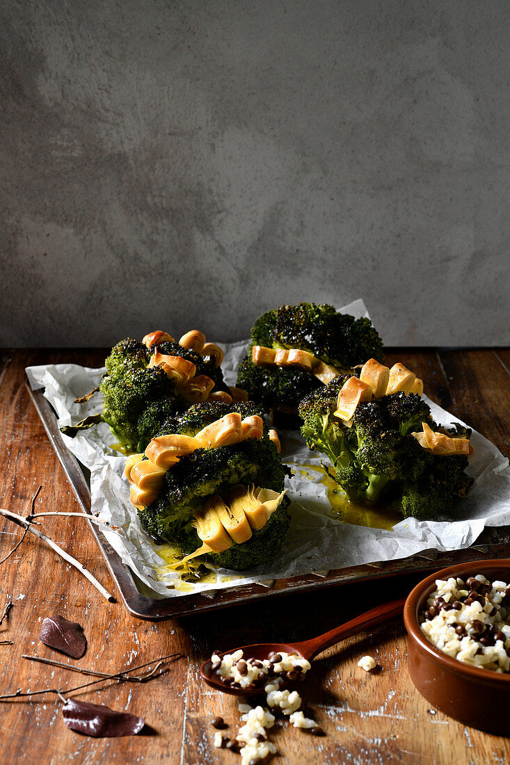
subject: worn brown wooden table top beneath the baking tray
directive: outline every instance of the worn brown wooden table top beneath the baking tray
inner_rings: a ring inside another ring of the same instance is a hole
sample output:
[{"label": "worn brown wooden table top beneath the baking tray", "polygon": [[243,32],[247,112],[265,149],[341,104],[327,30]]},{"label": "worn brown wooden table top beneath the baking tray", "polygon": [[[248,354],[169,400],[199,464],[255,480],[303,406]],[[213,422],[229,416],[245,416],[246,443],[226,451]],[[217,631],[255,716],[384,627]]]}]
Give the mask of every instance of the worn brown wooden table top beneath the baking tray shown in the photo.
[{"label": "worn brown wooden table top beneath the baking tray", "polygon": [[[73,361],[101,366],[101,350],[6,351],[0,356],[2,396],[0,433],[3,470],[0,506],[26,514],[37,500],[43,510],[75,511],[67,483],[44,428],[25,389],[25,366]],[[510,454],[510,351],[405,350],[387,353],[425,380],[427,394]],[[83,562],[106,588],[108,571],[81,519],[43,520],[44,531]],[[0,558],[21,538],[21,530],[2,522]],[[2,564],[0,614],[12,607],[0,627],[2,693],[87,682],[67,669],[21,659],[22,654],[58,659],[65,664],[118,672],[169,653],[182,658],[145,685],[107,680],[76,693],[82,701],[142,715],[148,728],[136,737],[94,739],[69,731],[55,695],[0,702],[1,763],[238,763],[228,750],[212,746],[211,718],[223,715],[234,736],[240,714],[237,700],[218,695],[198,679],[201,662],[215,648],[227,649],[266,640],[305,640],[329,630],[361,610],[407,591],[417,577],[346,585],[210,614],[151,623],[136,620],[119,602],[107,603],[74,568],[28,535]],[[87,653],[67,659],[38,641],[41,620],[61,614],[83,625]],[[456,723],[415,691],[407,674],[406,638],[400,619],[329,649],[314,662],[302,695],[325,737],[276,724],[271,738],[288,763],[505,763],[508,739]],[[358,659],[374,656],[381,670],[369,675]],[[510,732],[510,728],[509,728]]]}]

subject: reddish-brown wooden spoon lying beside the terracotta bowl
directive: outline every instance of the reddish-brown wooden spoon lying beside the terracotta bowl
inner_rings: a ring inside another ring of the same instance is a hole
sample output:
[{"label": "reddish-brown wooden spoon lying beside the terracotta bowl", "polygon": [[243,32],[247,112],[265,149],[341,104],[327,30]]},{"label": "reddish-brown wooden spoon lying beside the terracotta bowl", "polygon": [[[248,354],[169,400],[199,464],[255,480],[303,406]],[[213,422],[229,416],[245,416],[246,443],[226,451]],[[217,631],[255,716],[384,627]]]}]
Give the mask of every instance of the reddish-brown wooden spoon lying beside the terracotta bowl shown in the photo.
[{"label": "reddish-brown wooden spoon lying beside the terracotta bowl", "polygon": [[[244,659],[267,659],[270,653],[297,653],[302,656],[303,659],[313,659],[318,653],[321,653],[325,648],[334,646],[335,643],[339,643],[340,640],[345,640],[346,637],[355,635],[363,630],[368,630],[370,627],[375,627],[376,624],[396,617],[404,610],[405,597],[400,598],[398,601],[390,601],[384,603],[381,606],[376,606],[365,614],[361,614],[355,619],[351,619],[345,624],[341,624],[340,627],[335,627],[334,630],[319,635],[318,637],[312,637],[311,640],[302,640],[300,643],[256,643],[253,646],[240,646],[243,651]],[[238,651],[238,648],[232,648],[229,651],[218,653],[217,655],[223,658],[226,653],[234,653]],[[232,693],[236,696],[249,696],[255,694],[263,694],[263,688],[253,688],[247,690],[247,688],[232,688],[230,685],[221,681],[221,676],[217,672],[213,672],[211,669],[211,660],[204,662],[200,670],[202,679],[211,685],[211,688],[216,688],[217,691],[223,691],[224,693]],[[268,679],[267,682],[270,682]]]}]

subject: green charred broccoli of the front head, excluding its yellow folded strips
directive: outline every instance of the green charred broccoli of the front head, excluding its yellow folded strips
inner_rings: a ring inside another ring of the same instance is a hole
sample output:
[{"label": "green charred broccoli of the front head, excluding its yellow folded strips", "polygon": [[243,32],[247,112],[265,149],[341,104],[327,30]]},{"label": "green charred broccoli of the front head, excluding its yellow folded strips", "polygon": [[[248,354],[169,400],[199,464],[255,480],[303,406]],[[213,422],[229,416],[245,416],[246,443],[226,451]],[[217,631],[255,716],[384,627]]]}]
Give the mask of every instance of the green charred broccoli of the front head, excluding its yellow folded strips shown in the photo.
[{"label": "green charred broccoli of the front head, excluding its yellow folded strips", "polygon": [[[218,414],[227,414],[226,407],[217,403],[195,405],[175,421],[172,433],[195,435],[215,422]],[[243,418],[257,411],[250,404],[227,409],[228,412],[240,412]],[[177,543],[184,552],[195,552],[202,542],[192,524],[195,513],[201,510],[208,497],[224,497],[228,489],[239,485],[254,485],[280,493],[285,476],[286,467],[264,427],[262,438],[217,448],[196,448],[181,457],[166,470],[155,500],[139,508],[139,518],[145,531],[155,539]],[[280,552],[285,545],[288,526],[289,518],[280,505],[263,528],[253,531],[250,539],[240,544],[234,542],[224,552],[212,554],[211,560],[236,570],[253,568]]]}]

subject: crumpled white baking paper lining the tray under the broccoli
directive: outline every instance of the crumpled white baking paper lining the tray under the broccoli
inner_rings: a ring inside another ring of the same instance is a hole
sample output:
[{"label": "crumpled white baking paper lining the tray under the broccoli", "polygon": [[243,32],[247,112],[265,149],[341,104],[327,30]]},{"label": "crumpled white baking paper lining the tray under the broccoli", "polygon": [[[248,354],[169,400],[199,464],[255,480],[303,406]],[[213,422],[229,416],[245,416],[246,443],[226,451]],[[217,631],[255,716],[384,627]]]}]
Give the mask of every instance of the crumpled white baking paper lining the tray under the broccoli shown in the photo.
[{"label": "crumpled white baking paper lining the tray under the broccoli", "polygon": [[[355,301],[340,311],[356,317],[368,316],[363,301]],[[237,363],[246,354],[247,344],[244,341],[225,347],[222,367],[228,385],[236,382]],[[96,387],[104,369],[50,364],[31,366],[26,371],[32,389],[44,388],[44,396],[57,412],[60,427],[73,425],[87,415],[101,411],[99,393],[86,404],[75,404],[74,399]],[[433,419],[440,425],[462,422],[426,400]],[[175,573],[165,569],[158,546],[143,532],[136,509],[129,501],[129,486],[123,477],[126,458],[112,448],[116,438],[108,425],[94,426],[76,438],[63,438],[67,448],[90,470],[92,512],[115,527],[101,527],[103,534],[139,581],[149,588],[144,594],[151,597],[181,597],[190,591],[217,590],[313,571],[395,560],[429,549],[441,552],[463,549],[476,541],[485,526],[510,525],[508,460],[476,431],[472,433],[475,452],[469,462],[469,474],[475,478],[475,483],[467,499],[456,504],[450,518],[440,521],[404,519],[389,531],[338,520],[322,483],[324,476],[313,470],[314,466],[320,467],[325,455],[309,451],[298,431],[280,431],[282,459],[294,471],[293,477],[286,480],[288,496],[292,500],[286,548],[272,564],[247,573],[214,569],[217,574],[214,584],[198,582],[189,585],[186,591],[178,591],[173,588]]]}]

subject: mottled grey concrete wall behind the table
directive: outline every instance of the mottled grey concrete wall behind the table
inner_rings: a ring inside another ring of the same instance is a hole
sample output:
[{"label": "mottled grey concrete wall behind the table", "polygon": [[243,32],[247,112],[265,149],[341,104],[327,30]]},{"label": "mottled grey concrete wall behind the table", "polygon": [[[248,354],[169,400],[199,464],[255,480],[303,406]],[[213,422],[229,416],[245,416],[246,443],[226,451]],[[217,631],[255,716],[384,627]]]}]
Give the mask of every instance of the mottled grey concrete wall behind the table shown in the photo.
[{"label": "mottled grey concrete wall behind the table", "polygon": [[0,345],[365,299],[508,343],[510,6],[0,5]]}]

